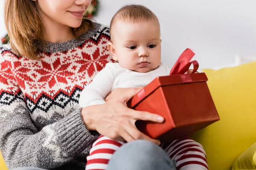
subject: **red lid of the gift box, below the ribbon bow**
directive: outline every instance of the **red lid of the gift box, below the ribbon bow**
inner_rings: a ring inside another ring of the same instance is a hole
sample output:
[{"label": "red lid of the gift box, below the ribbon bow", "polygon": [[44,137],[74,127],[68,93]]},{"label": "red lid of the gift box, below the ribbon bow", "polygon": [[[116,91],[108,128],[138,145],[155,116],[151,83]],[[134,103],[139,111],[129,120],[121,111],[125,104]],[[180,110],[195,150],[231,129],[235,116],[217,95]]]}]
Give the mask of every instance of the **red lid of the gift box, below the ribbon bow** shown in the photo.
[{"label": "red lid of the gift box, below the ribbon bow", "polygon": [[155,78],[152,82],[141,89],[127,103],[129,108],[136,107],[143,99],[152,94],[157,88],[166,85],[178,85],[184,83],[206,82],[207,76],[205,73],[194,74],[177,74],[170,76],[162,76]]}]

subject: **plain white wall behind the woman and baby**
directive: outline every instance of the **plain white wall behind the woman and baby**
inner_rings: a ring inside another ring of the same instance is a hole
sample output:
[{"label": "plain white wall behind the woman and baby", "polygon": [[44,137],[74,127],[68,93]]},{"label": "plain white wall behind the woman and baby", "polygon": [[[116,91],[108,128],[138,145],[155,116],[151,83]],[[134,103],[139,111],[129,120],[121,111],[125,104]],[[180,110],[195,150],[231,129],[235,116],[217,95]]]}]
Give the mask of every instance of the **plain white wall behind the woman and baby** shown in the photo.
[{"label": "plain white wall behind the woman and baby", "polygon": [[[236,55],[256,56],[256,0],[99,0],[95,20],[109,25],[127,3],[150,8],[159,18],[162,58],[172,66],[186,48],[192,48],[201,68],[233,65]],[[3,0],[0,35],[4,35]]]}]

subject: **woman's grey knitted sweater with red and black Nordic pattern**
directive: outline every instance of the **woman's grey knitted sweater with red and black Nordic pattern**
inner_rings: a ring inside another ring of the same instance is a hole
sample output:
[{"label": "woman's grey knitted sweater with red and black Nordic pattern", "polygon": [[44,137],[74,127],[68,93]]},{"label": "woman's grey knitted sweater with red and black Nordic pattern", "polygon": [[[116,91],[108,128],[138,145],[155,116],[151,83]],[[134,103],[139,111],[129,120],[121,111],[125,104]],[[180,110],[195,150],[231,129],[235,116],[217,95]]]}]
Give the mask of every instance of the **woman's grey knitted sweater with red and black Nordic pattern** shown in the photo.
[{"label": "woman's grey knitted sweater with red and black Nordic pattern", "polygon": [[38,44],[40,61],[0,47],[0,150],[9,168],[84,170],[98,133],[84,125],[79,96],[113,60],[108,27],[95,23],[80,38]]}]

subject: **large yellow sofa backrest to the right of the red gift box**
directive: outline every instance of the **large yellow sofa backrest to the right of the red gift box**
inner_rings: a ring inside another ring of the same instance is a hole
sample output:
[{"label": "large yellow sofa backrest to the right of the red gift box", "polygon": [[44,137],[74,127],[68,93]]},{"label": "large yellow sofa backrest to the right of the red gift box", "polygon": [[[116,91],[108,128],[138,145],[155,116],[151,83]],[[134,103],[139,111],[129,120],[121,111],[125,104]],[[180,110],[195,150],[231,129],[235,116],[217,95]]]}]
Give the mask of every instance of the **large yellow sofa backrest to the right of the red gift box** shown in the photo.
[{"label": "large yellow sofa backrest to the right of the red gift box", "polygon": [[195,133],[204,146],[209,170],[231,170],[234,161],[256,142],[256,62],[204,70],[220,121]]}]

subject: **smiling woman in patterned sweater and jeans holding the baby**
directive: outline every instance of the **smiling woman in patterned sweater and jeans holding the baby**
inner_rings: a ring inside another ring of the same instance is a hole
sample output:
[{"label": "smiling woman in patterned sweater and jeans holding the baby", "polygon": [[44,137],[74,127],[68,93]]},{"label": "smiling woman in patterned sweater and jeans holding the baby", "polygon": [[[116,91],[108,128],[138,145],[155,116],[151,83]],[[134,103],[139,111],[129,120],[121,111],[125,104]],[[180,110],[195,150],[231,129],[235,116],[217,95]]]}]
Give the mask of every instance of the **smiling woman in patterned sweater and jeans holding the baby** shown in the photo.
[{"label": "smiling woman in patterned sweater and jeans holding the baby", "polygon": [[[0,48],[3,158],[10,169],[84,170],[90,145],[100,133],[129,142],[114,154],[108,168],[170,170],[173,162],[154,144],[159,141],[134,126],[138,119],[163,122],[163,118],[125,105],[139,89],[117,89],[103,105],[78,106],[84,86],[112,61],[107,50],[109,28],[82,19],[90,3],[6,0],[11,49]],[[136,139],[145,140],[131,142]]]}]

